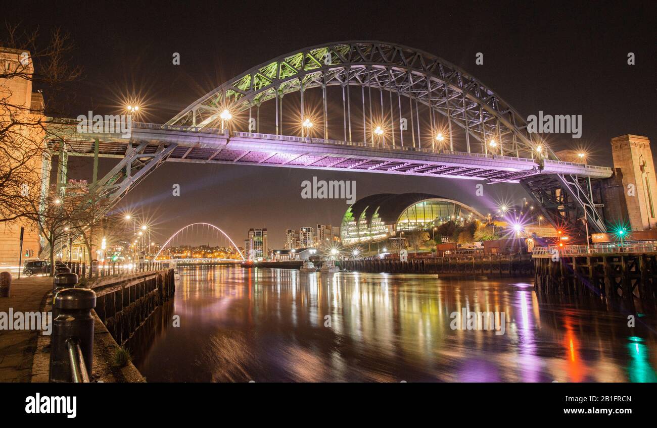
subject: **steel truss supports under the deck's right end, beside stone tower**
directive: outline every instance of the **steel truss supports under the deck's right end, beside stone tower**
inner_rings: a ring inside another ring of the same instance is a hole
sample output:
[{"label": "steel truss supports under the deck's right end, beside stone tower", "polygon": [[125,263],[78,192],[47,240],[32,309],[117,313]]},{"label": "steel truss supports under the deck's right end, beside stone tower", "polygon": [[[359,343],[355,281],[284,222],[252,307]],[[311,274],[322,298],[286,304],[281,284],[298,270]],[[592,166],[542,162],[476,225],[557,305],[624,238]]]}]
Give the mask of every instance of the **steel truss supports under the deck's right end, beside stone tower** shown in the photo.
[{"label": "steel truss supports under the deck's right end, beside stone tower", "polygon": [[556,229],[566,226],[581,233],[588,222],[589,232],[606,232],[604,220],[597,210],[602,205],[593,202],[591,179],[551,174],[522,179],[520,184]]}]

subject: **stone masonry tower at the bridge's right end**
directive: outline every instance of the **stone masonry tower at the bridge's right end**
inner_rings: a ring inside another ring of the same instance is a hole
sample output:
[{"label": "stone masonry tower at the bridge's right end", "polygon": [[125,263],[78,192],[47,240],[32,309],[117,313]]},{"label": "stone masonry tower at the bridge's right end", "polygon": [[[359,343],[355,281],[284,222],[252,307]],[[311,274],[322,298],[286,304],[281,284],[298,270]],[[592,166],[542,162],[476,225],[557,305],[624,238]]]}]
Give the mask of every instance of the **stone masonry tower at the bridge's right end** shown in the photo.
[{"label": "stone masonry tower at the bridge's right end", "polygon": [[638,135],[612,139],[614,167],[620,168],[632,230],[657,227],[657,179],[650,140]]}]

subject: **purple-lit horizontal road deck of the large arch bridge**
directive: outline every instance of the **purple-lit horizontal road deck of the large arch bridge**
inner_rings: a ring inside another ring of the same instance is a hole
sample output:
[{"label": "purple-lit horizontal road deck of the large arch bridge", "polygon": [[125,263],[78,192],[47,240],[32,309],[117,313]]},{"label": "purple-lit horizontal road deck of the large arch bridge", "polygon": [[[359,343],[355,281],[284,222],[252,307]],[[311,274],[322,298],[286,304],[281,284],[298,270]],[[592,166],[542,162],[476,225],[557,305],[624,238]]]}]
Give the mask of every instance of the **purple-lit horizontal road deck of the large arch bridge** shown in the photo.
[{"label": "purple-lit horizontal road deck of the large arch bridge", "polygon": [[608,167],[581,163],[512,156],[452,152],[409,146],[378,145],[368,142],[311,139],[286,135],[231,132],[225,129],[133,123],[129,138],[108,133],[78,133],[74,123],[53,124],[49,146],[58,151],[63,139],[68,156],[93,156],[99,139],[99,156],[124,158],[135,142],[149,142],[145,154],[175,144],[168,161],[233,163],[368,171],[388,174],[453,177],[489,181],[517,181],[545,173],[574,174],[580,177],[610,177]]}]

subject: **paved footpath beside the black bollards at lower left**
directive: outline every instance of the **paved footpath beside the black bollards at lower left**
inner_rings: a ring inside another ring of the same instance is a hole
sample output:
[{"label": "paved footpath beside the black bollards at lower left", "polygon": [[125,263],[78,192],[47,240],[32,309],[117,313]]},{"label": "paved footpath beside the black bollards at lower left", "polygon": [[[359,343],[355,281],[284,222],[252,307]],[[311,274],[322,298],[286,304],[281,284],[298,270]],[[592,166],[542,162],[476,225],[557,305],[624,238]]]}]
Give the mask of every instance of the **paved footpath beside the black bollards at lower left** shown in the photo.
[{"label": "paved footpath beside the black bollards at lower left", "polygon": [[[0,312],[40,312],[48,291],[53,288],[50,276],[14,275],[9,297],[0,297]],[[0,330],[0,382],[30,382],[38,330]]]}]

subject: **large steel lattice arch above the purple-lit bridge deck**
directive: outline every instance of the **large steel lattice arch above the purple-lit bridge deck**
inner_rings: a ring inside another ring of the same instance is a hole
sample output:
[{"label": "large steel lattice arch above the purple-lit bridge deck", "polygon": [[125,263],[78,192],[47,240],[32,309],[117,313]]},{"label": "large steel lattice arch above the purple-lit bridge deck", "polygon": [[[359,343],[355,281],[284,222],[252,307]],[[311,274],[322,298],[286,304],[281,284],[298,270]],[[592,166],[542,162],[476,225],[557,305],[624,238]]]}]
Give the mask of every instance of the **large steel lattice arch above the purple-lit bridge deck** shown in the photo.
[{"label": "large steel lattice arch above the purple-lit bridge deck", "polygon": [[[500,154],[533,158],[542,150],[542,158],[558,160],[539,137],[528,132],[526,120],[481,81],[433,54],[381,41],[328,43],[273,58],[198,98],[168,124],[216,127],[223,110],[238,114],[273,99],[277,100],[278,120],[278,100],[284,95],[320,87],[325,97],[325,87],[332,85],[342,86],[343,98],[344,88],[351,85],[389,91],[391,110],[393,93],[411,98],[430,109],[433,131],[436,113],[447,118],[450,130],[452,125],[463,129],[468,152],[474,148],[472,152],[487,154],[493,150],[489,142],[497,140]],[[390,125],[394,129],[393,116]],[[373,125],[370,118],[370,128]],[[368,139],[367,134],[373,135],[373,129],[370,131],[365,131]],[[453,150],[451,137],[450,131]],[[478,144],[470,144],[470,138]]]}]

